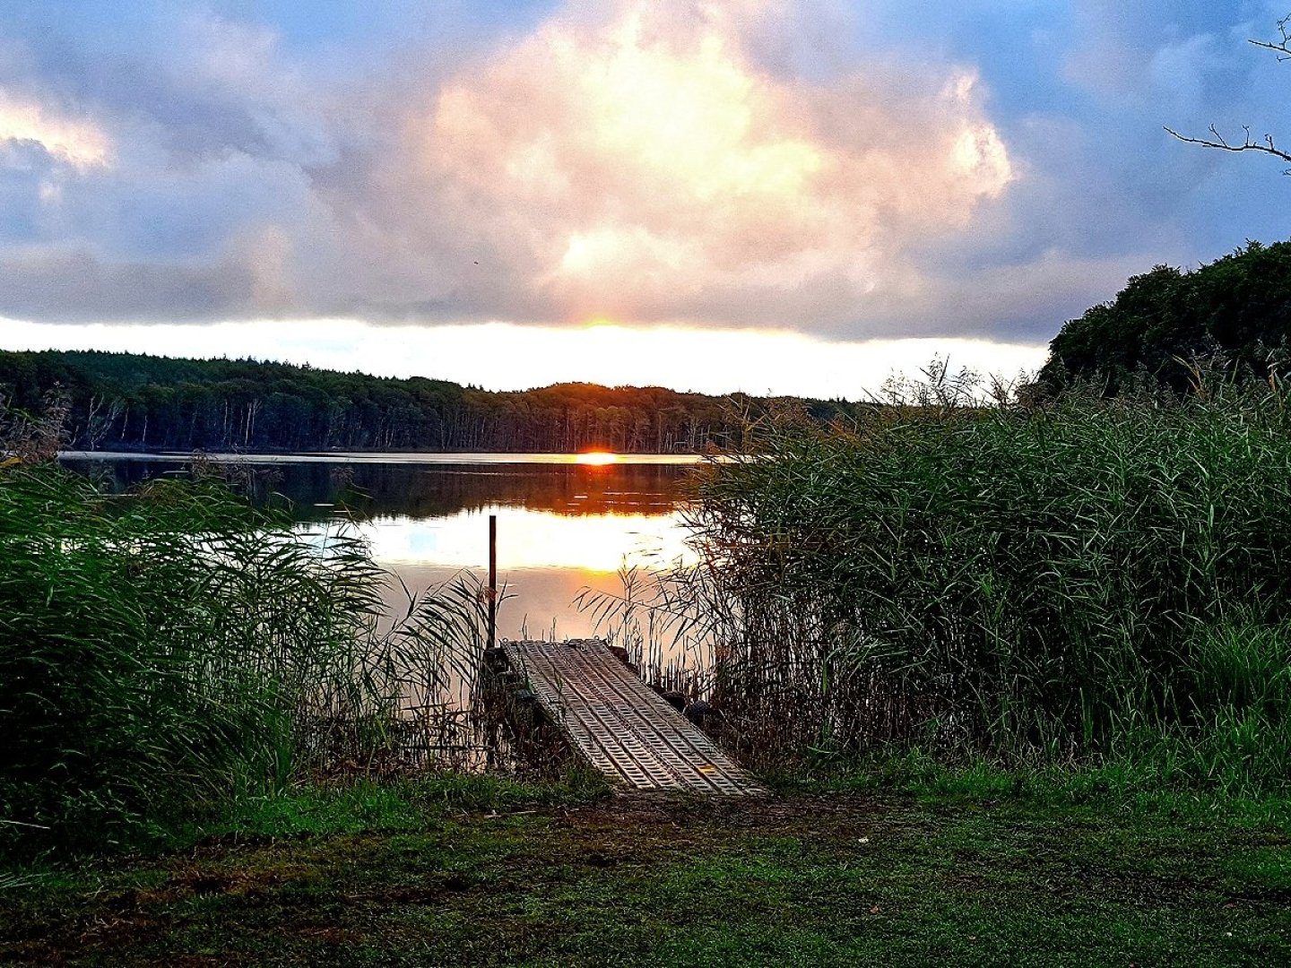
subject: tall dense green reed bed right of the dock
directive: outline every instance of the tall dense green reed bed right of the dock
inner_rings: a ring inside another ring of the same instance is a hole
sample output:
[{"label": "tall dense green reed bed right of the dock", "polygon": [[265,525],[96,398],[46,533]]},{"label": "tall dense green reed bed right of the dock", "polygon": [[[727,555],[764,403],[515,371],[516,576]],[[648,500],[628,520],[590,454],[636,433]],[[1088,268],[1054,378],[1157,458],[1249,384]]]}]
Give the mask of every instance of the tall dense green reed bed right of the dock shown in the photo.
[{"label": "tall dense green reed bed right of the dock", "polygon": [[917,404],[830,430],[781,414],[695,481],[704,564],[631,604],[709,643],[731,741],[1285,789],[1282,388]]}]

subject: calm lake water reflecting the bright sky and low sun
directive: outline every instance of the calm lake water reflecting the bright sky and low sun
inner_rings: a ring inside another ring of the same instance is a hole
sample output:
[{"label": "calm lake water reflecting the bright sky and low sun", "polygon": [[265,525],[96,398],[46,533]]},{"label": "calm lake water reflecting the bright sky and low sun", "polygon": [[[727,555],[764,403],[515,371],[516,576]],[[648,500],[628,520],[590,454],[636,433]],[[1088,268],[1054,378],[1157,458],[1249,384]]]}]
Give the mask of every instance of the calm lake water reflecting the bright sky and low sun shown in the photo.
[{"label": "calm lake water reflecting the bright sky and low sun", "polygon": [[[509,598],[498,635],[580,638],[595,632],[573,599],[621,591],[625,565],[689,560],[678,484],[695,458],[620,457],[608,466],[572,454],[329,454],[244,457],[258,498],[276,493],[302,521],[355,509],[374,558],[421,591],[462,570],[484,577],[488,516],[498,518],[498,578]],[[181,474],[186,458],[67,454],[65,463],[124,489]]]}]

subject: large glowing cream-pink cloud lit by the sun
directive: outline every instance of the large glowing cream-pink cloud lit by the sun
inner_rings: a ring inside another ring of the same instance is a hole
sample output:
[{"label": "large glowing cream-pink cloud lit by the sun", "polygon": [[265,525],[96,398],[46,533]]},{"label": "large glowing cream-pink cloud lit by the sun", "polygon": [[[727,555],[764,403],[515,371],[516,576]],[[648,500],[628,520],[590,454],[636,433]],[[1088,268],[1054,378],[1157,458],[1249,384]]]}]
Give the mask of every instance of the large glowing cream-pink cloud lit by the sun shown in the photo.
[{"label": "large glowing cream-pink cloud lit by the sun", "polygon": [[480,257],[453,289],[473,314],[844,325],[1012,168],[971,70],[760,70],[746,37],[781,13],[622,3],[494,52],[409,112],[381,183],[430,191],[400,237],[449,277]]}]

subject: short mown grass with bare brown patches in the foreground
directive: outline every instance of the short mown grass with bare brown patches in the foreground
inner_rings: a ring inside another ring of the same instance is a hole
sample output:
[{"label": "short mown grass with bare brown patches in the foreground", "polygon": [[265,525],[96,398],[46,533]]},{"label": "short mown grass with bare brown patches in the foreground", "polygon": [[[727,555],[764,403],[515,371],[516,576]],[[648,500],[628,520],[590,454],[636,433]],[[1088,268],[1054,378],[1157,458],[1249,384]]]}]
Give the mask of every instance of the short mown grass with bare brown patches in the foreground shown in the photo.
[{"label": "short mown grass with bare brown patches in the foreground", "polygon": [[1281,822],[931,787],[731,803],[480,780],[314,791],[275,811],[236,838],[0,893],[0,960],[1291,959]]}]

